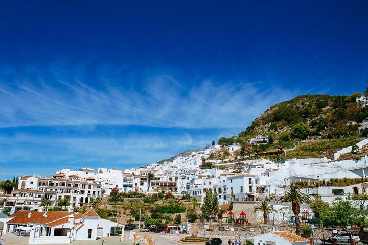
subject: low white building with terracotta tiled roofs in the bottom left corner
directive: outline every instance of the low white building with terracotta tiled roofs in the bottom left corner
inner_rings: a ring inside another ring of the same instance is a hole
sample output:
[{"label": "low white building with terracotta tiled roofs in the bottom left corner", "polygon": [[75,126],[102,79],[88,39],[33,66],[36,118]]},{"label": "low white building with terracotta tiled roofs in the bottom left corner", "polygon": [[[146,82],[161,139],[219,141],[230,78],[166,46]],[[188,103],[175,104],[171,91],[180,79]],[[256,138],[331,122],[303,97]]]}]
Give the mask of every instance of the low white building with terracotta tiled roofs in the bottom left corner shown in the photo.
[{"label": "low white building with terracotta tiled roofs in the bottom left corner", "polygon": [[29,230],[29,244],[68,244],[110,236],[111,228],[124,226],[100,218],[92,208],[84,214],[71,211],[18,211],[5,223],[4,233]]}]

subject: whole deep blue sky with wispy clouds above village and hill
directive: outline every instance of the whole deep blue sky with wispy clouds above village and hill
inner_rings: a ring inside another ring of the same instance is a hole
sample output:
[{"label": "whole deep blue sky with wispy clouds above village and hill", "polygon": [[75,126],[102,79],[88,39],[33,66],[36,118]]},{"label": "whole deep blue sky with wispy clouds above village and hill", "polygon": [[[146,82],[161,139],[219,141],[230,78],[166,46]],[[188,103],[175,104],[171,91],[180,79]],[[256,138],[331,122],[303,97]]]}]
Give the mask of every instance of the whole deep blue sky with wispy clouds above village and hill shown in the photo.
[{"label": "whole deep blue sky with wispy clouds above village and hill", "polygon": [[2,178],[130,168],[368,85],[366,1],[3,1]]}]

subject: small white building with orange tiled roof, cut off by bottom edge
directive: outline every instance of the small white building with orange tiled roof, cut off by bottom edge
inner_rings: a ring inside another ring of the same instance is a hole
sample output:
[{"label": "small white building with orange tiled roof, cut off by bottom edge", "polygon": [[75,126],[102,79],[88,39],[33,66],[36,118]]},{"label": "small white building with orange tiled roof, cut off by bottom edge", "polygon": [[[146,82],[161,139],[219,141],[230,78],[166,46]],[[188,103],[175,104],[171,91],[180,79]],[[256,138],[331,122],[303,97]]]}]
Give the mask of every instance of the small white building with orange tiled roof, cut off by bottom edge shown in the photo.
[{"label": "small white building with orange tiled roof, cut off by bottom edge", "polygon": [[273,231],[254,237],[255,245],[309,245],[309,240],[290,231]]}]

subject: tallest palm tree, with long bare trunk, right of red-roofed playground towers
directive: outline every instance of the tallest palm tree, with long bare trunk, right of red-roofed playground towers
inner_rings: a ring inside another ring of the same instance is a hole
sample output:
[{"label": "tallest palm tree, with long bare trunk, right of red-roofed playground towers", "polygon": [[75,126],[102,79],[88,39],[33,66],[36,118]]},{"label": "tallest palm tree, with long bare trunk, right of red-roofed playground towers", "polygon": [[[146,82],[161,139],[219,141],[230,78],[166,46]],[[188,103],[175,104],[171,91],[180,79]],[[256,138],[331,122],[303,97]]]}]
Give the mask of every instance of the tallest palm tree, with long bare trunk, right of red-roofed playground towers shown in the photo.
[{"label": "tallest palm tree, with long bare trunk, right of red-roofed playground towers", "polygon": [[300,235],[300,224],[299,224],[300,204],[310,203],[310,198],[308,197],[308,195],[296,189],[294,186],[291,186],[290,190],[288,190],[279,199],[278,203],[291,203],[291,209],[293,210],[293,213],[295,215],[296,235]]}]

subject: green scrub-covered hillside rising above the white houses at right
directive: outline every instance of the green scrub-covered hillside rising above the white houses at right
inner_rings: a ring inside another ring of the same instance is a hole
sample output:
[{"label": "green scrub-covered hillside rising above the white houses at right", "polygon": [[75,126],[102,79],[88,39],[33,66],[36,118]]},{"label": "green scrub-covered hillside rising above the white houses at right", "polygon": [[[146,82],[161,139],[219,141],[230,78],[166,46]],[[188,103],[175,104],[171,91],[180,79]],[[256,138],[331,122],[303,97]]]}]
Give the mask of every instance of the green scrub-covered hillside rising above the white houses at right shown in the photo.
[{"label": "green scrub-covered hillside rising above the white houses at right", "polygon": [[[366,91],[368,92],[368,90]],[[270,149],[294,149],[285,157],[331,157],[343,147],[367,137],[368,130],[358,131],[368,118],[368,107],[362,107],[350,96],[302,95],[271,106],[238,136],[220,138],[218,144],[240,143],[236,155],[254,155]],[[257,135],[269,137],[269,143],[251,146],[247,139]],[[321,148],[324,144],[328,147]]]}]

